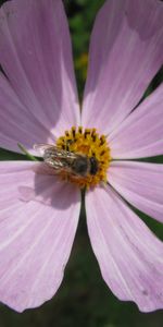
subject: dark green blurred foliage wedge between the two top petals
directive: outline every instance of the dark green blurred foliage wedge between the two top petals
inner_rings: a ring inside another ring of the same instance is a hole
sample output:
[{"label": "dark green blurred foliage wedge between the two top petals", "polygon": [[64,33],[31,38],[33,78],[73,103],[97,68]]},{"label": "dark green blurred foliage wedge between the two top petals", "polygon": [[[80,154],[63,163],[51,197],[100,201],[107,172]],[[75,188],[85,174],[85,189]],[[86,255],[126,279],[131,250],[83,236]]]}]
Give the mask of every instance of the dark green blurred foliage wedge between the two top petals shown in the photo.
[{"label": "dark green blurred foliage wedge between the two top petals", "polygon": [[90,31],[92,29],[96,13],[104,3],[104,0],[65,0],[64,2],[70,21],[76,77],[78,81],[77,86],[79,98],[82,99],[87,74]]}]

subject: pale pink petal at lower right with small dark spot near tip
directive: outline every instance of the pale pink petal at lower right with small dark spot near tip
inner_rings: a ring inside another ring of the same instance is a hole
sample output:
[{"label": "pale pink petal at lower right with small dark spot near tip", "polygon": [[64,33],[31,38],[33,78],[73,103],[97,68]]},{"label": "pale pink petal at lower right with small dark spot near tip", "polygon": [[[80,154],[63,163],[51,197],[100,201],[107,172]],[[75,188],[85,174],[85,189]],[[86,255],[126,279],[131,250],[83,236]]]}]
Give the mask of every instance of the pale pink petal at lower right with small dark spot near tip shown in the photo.
[{"label": "pale pink petal at lower right with small dark spot near tip", "polygon": [[163,244],[110,189],[86,197],[88,231],[102,277],[142,312],[163,307]]}]

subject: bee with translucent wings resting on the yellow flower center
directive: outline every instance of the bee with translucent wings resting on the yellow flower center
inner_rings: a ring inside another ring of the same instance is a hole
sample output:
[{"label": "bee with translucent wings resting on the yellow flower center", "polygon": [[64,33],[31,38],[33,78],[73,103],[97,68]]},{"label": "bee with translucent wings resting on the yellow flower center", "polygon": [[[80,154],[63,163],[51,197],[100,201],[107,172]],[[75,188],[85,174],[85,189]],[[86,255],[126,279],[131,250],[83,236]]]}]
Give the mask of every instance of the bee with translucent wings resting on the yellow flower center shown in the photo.
[{"label": "bee with translucent wings resting on the yellow flower center", "polygon": [[42,155],[45,162],[57,173],[66,172],[76,178],[87,178],[95,175],[99,170],[99,161],[95,156],[88,157],[48,144],[35,144],[34,148]]}]

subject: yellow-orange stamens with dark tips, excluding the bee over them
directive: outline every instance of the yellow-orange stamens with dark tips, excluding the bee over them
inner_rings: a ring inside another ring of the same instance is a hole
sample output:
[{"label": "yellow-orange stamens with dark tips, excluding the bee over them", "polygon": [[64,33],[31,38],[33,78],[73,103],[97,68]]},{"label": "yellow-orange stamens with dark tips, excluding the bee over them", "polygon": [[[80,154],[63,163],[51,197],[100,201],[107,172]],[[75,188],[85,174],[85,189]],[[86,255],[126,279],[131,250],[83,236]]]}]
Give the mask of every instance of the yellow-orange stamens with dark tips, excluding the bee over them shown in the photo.
[{"label": "yellow-orange stamens with dark tips, excluding the bee over them", "polygon": [[96,186],[100,182],[106,183],[106,170],[111,161],[111,152],[104,135],[97,133],[96,129],[85,129],[73,126],[65,131],[63,136],[57,141],[57,146],[61,149],[74,153],[76,155],[95,158],[98,161],[98,170],[95,174],[90,171],[86,175],[74,175],[73,172],[62,171],[60,174],[79,187]]}]

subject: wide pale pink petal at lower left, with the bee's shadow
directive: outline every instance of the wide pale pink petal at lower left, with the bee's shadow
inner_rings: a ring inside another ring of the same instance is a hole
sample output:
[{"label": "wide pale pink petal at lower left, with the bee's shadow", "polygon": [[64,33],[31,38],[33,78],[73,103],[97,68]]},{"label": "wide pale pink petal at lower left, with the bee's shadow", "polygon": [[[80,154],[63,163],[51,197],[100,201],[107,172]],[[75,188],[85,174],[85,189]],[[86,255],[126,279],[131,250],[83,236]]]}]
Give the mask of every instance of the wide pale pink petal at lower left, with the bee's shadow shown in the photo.
[{"label": "wide pale pink petal at lower left, with the bee's shadow", "polygon": [[51,299],[63,279],[79,192],[40,164],[0,164],[0,300],[22,312]]}]

